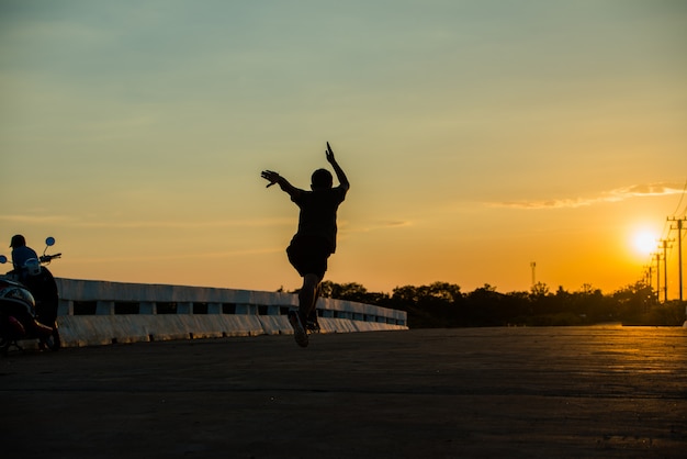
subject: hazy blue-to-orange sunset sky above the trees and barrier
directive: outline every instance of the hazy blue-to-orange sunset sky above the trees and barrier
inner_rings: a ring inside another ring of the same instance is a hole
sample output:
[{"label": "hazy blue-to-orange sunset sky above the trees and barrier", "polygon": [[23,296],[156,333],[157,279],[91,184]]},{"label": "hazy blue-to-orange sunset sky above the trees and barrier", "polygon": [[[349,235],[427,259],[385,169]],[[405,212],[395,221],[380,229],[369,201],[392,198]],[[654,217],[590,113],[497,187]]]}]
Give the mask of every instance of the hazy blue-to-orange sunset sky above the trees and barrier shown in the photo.
[{"label": "hazy blue-to-orange sunset sky above the trees and barrier", "polygon": [[260,171],[307,189],[329,142],[327,280],[610,293],[672,238],[676,298],[686,81],[679,0],[0,0],[0,240],[54,236],[63,278],[293,290]]}]

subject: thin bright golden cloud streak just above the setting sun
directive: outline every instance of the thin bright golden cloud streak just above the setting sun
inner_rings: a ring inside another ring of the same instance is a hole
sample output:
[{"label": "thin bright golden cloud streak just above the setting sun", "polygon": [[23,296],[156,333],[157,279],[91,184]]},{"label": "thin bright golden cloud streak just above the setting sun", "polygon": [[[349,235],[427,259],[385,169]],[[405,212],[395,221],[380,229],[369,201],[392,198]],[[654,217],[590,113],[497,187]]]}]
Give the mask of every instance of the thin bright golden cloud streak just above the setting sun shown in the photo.
[{"label": "thin bright golden cloud streak just above the setting sun", "polygon": [[686,187],[680,183],[642,183],[629,187],[616,188],[610,191],[602,191],[595,197],[587,198],[563,198],[550,200],[525,200],[525,201],[502,201],[492,202],[488,205],[494,208],[509,209],[576,209],[582,206],[602,204],[607,202],[620,202],[632,198],[662,197],[680,194]]}]

